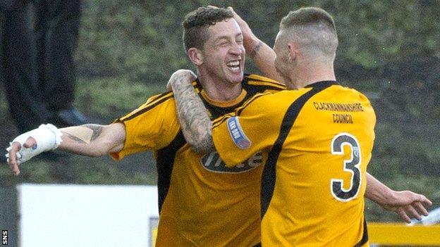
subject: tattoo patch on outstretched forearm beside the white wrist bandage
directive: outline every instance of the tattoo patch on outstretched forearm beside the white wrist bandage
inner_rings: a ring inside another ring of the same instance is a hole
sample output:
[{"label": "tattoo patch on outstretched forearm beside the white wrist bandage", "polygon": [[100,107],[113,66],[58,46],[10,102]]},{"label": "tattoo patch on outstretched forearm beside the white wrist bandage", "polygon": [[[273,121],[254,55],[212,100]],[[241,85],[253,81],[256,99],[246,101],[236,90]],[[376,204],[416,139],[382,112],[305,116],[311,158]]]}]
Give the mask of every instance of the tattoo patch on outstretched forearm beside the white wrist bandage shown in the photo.
[{"label": "tattoo patch on outstretched forearm beside the white wrist bandage", "polygon": [[62,132],[75,142],[90,144],[102,134],[102,129],[102,125],[81,125],[64,128]]}]

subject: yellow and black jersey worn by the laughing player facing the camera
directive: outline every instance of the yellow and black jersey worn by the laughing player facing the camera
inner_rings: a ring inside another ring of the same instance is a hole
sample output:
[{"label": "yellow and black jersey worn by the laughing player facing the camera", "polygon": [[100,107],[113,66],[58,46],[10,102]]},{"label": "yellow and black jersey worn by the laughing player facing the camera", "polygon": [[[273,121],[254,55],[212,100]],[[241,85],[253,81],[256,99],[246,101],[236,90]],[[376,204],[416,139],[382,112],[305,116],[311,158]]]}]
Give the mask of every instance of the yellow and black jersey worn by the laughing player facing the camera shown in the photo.
[{"label": "yellow and black jersey worn by the laughing player facing the camera", "polygon": [[[285,89],[268,78],[245,75],[240,96],[216,102],[198,81],[193,85],[212,120],[233,113],[255,94]],[[235,167],[226,167],[216,152],[197,155],[183,138],[172,92],[153,96],[116,121],[126,127],[126,142],[112,157],[153,150],[157,158],[160,216],[156,246],[259,243],[259,186],[267,155],[256,151]]]}]

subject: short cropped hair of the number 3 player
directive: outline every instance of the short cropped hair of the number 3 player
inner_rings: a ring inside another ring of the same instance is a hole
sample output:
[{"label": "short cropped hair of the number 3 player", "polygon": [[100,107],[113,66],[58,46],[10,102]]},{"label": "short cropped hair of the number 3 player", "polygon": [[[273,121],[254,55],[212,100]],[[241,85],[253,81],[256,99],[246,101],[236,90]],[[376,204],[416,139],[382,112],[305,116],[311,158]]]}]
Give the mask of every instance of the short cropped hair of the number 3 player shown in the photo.
[{"label": "short cropped hair of the number 3 player", "polygon": [[293,37],[310,51],[336,55],[338,35],[333,18],[322,8],[306,7],[291,11],[280,23],[280,32]]}]

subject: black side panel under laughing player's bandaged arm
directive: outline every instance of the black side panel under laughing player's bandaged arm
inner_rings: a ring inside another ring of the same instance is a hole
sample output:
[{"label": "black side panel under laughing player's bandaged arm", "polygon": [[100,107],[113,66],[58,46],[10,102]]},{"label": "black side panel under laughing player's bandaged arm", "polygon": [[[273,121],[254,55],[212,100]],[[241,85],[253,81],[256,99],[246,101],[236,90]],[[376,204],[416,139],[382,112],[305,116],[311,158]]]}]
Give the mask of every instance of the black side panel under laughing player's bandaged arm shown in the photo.
[{"label": "black side panel under laughing player's bandaged arm", "polygon": [[162,204],[164,204],[166,194],[168,194],[176,153],[185,143],[185,137],[183,137],[182,130],[180,130],[168,146],[157,151],[156,167],[159,214],[162,209]]}]

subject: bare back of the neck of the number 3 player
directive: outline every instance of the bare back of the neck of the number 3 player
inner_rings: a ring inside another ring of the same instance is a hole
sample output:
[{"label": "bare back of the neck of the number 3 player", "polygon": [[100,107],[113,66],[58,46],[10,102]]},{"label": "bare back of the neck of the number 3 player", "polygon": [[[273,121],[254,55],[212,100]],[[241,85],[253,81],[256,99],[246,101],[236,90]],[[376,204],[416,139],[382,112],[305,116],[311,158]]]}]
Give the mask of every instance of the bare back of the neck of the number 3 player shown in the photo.
[{"label": "bare back of the neck of the number 3 player", "polygon": [[288,89],[300,89],[314,82],[336,81],[333,61],[331,63],[305,61],[291,73]]}]

